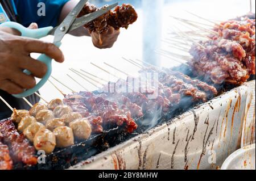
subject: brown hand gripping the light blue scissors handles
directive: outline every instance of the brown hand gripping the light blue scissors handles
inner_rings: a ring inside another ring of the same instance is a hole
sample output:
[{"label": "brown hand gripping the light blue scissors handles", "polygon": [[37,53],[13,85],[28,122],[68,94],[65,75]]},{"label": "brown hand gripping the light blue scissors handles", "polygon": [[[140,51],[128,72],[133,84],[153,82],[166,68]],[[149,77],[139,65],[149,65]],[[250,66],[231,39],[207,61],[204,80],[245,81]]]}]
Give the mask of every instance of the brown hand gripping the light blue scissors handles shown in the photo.
[{"label": "brown hand gripping the light blue scissors handles", "polygon": [[[47,66],[31,58],[30,53],[42,53],[57,62],[64,61],[63,53],[52,43],[16,36],[16,33],[15,30],[0,28],[0,89],[9,94],[31,89],[36,85],[35,77],[43,78],[46,74]],[[24,69],[32,74],[23,73]]]}]

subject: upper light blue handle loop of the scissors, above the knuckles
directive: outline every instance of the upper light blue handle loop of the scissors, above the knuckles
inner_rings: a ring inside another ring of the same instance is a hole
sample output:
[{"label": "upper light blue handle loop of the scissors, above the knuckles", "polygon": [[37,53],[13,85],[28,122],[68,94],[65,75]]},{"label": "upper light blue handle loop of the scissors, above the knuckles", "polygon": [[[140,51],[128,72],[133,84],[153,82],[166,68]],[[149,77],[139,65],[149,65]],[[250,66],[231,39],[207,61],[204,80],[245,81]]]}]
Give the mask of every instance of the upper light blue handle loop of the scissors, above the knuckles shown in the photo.
[{"label": "upper light blue handle loop of the scissors, above the knuckles", "polygon": [[14,28],[15,30],[18,30],[21,33],[21,36],[31,37],[34,39],[40,39],[42,37],[47,36],[49,31],[53,29],[53,27],[45,27],[45,28],[31,30],[23,27],[21,24],[16,22],[5,22],[0,24],[0,27]]}]

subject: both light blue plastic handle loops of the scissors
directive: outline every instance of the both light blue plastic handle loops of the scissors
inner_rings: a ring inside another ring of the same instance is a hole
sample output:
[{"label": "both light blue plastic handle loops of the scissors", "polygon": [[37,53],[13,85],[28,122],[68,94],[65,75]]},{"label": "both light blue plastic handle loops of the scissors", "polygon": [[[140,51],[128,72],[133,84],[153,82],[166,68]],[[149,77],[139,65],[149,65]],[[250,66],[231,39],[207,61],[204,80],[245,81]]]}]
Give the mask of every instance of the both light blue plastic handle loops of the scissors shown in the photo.
[{"label": "both light blue plastic handle loops of the scissors", "polygon": [[[31,37],[34,39],[40,39],[42,37],[45,37],[48,35],[49,31],[53,29],[53,27],[46,27],[46,28],[39,28],[35,30],[31,30],[28,28],[23,27],[19,23],[15,22],[5,22],[0,25],[0,27],[9,27],[9,28],[14,28],[15,30],[18,30],[21,33],[21,36],[24,37]],[[60,47],[61,43],[55,44],[57,47]],[[34,94],[36,91],[38,91],[43,85],[48,81],[49,77],[51,76],[52,73],[52,58],[46,56],[46,54],[41,54],[38,57],[38,61],[43,62],[44,64],[47,65],[47,73],[44,75],[44,77],[36,84],[35,87],[32,89],[25,90],[21,94],[15,94],[16,98],[24,98],[26,96],[30,96]],[[24,70],[24,73],[30,75],[31,72],[28,70]]]}]

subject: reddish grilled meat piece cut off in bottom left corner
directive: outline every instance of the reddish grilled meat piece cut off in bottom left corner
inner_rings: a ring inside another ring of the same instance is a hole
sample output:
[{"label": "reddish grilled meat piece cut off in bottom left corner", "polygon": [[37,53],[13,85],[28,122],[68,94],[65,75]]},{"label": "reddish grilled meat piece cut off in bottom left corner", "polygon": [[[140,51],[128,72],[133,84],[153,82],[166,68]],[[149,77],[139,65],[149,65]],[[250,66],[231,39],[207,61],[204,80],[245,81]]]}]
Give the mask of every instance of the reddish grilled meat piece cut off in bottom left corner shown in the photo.
[{"label": "reddish grilled meat piece cut off in bottom left corner", "polygon": [[13,161],[11,160],[9,148],[2,143],[3,135],[0,132],[0,170],[13,169]]}]

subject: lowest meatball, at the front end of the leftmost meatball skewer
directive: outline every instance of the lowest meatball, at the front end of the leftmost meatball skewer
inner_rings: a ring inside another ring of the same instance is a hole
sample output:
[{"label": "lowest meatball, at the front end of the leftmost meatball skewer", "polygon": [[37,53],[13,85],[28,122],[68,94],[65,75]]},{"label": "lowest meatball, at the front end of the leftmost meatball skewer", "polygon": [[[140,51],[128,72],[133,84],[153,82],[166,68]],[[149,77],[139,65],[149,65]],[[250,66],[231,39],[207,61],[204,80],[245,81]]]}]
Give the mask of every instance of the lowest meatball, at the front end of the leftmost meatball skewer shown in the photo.
[{"label": "lowest meatball, at the front end of the leftmost meatball skewer", "polygon": [[56,146],[56,137],[49,129],[40,129],[34,137],[36,150],[44,150],[46,154],[52,153]]}]

